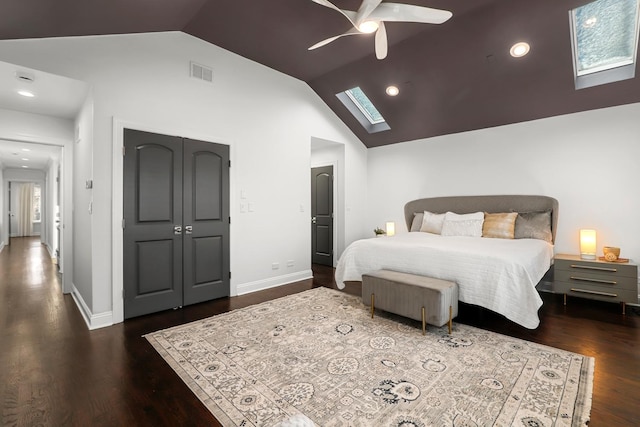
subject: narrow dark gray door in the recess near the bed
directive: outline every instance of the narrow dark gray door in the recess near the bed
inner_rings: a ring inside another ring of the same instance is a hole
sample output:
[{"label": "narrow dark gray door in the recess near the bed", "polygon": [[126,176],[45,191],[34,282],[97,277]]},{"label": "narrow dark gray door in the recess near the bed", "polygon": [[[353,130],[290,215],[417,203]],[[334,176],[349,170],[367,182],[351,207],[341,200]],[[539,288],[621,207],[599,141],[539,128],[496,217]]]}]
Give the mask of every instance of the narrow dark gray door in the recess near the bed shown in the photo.
[{"label": "narrow dark gray door in the recess near the bed", "polygon": [[333,166],[311,168],[311,262],[333,266]]}]

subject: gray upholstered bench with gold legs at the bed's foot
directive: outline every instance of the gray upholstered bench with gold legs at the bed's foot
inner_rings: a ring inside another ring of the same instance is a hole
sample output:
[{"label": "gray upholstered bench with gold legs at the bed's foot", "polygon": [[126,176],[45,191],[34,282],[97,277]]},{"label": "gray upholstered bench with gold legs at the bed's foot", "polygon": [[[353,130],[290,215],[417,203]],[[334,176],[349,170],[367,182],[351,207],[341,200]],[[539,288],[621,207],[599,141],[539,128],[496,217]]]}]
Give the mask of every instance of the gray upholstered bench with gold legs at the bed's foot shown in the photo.
[{"label": "gray upholstered bench with gold legs at the bed's foot", "polygon": [[362,302],[400,316],[443,326],[458,315],[458,286],[455,282],[390,270],[362,275]]}]

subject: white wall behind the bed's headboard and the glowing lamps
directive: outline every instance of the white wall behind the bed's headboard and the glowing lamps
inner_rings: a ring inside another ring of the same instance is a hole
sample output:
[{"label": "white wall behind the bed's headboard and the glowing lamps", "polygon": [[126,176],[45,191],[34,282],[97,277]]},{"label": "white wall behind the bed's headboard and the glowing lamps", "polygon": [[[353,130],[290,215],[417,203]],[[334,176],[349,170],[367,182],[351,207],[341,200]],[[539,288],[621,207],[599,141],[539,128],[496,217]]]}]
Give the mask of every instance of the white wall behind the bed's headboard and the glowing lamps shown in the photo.
[{"label": "white wall behind the bed's headboard and the glowing lamps", "polygon": [[632,104],[371,149],[367,228],[406,230],[404,204],[422,197],[541,194],[560,204],[556,253],[594,228],[600,254],[640,261],[638,117]]}]

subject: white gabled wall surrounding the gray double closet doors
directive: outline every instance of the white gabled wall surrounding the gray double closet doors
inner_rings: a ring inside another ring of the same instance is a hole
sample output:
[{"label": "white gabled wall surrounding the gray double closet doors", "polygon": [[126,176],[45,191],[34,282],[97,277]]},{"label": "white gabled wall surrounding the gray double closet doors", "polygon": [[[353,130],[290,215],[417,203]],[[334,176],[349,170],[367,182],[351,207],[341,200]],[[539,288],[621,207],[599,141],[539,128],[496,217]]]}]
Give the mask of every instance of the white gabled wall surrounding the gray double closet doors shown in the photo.
[{"label": "white gabled wall surrounding the gray double closet doors", "polygon": [[[111,271],[112,238],[121,234],[117,225],[112,230],[121,215],[118,187],[112,200],[112,183],[118,182],[113,167],[121,163],[113,158],[114,119],[231,146],[232,293],[310,274],[312,137],[345,144],[345,239],[364,234],[366,149],[299,80],[174,32],[7,40],[0,42],[0,55],[92,87],[92,294],[83,298],[94,315],[117,310],[118,303],[112,301],[112,283],[119,278]],[[213,85],[189,78],[189,61],[211,66]],[[254,212],[239,212],[241,190]],[[295,266],[287,268],[291,259]],[[281,268],[272,270],[273,262]]]}]

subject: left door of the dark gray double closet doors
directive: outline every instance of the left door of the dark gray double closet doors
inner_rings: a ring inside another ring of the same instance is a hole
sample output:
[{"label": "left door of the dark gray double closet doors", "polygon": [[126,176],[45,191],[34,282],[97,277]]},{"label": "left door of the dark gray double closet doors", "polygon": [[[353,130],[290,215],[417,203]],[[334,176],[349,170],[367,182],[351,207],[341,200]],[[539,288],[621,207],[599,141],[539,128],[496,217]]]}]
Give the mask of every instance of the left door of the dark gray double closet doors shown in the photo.
[{"label": "left door of the dark gray double closet doors", "polygon": [[124,130],[124,317],[182,305],[182,139]]}]

